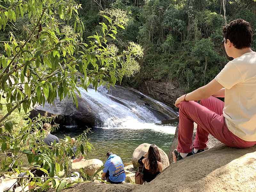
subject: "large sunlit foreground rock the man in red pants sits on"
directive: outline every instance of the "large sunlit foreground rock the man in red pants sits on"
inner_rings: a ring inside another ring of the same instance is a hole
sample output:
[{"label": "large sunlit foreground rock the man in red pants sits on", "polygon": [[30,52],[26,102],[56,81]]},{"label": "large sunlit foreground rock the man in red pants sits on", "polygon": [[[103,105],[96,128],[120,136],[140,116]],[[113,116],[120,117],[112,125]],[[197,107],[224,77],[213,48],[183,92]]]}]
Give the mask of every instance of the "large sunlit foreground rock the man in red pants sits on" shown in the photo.
[{"label": "large sunlit foreground rock the man in red pants sits on", "polygon": [[256,146],[223,144],[171,164],[147,185],[82,183],[63,192],[255,192]]}]

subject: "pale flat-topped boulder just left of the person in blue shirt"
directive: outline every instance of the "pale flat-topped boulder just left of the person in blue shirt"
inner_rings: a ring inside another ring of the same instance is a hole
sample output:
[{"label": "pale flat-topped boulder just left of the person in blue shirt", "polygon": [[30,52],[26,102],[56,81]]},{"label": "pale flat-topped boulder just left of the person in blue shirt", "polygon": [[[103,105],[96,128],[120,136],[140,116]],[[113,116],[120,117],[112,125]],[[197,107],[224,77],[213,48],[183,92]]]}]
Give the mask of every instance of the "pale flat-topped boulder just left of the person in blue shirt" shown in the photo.
[{"label": "pale flat-topped boulder just left of the person in blue shirt", "polygon": [[98,171],[98,169],[100,169],[102,165],[103,163],[99,159],[81,160],[72,163],[72,172],[79,172],[81,174],[80,169],[82,168],[84,170],[84,173],[86,173],[89,176],[92,176],[94,173]]}]

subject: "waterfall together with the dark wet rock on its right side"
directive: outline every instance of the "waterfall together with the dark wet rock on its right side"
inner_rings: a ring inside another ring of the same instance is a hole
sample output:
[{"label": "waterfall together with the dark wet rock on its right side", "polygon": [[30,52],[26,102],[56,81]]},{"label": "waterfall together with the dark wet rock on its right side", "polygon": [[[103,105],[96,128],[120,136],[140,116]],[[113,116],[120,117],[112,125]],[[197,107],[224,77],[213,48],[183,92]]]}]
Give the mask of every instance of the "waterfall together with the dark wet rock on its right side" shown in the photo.
[{"label": "waterfall together with the dark wet rock on its right side", "polygon": [[[165,104],[156,101],[134,89],[116,87],[119,89],[119,95],[115,93],[116,90],[112,88],[110,91],[105,86],[98,87],[97,92],[94,89],[88,88],[86,92],[82,88],[78,88],[81,97],[86,99],[92,108],[92,113],[97,119],[96,127],[103,128],[129,128],[129,129],[155,129],[157,131],[166,132],[166,129],[173,126],[161,126],[159,123],[165,116],[169,119],[177,116],[172,108]],[[121,91],[120,91],[121,90]],[[127,94],[131,98],[127,100],[123,94]],[[123,97],[123,98],[122,98]],[[139,99],[138,99],[139,98]],[[142,99],[141,99],[142,98]],[[146,102],[145,102],[146,100]],[[163,111],[159,115],[159,109]]]}]

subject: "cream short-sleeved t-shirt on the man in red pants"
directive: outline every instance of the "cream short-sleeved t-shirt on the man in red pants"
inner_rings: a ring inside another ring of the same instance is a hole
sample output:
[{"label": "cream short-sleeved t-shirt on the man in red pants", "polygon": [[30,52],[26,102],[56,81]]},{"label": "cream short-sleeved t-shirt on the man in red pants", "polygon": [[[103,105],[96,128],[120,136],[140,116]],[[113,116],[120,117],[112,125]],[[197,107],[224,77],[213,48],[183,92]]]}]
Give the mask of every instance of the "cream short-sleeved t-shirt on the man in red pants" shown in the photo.
[{"label": "cream short-sleeved t-shirt on the man in red pants", "polygon": [[229,61],[215,80],[225,87],[223,116],[229,131],[256,141],[256,52]]}]

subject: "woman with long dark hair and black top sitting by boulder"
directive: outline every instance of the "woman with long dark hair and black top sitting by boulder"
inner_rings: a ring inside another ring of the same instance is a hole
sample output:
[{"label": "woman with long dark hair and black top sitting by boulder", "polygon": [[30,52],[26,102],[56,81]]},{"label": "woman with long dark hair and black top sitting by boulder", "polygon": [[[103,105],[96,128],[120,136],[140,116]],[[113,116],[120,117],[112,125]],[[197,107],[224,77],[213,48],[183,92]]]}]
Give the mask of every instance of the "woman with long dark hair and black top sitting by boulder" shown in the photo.
[{"label": "woman with long dark hair and black top sitting by boulder", "polygon": [[138,160],[138,163],[144,166],[142,174],[146,182],[152,181],[163,171],[160,153],[155,144],[150,145],[148,152]]}]

